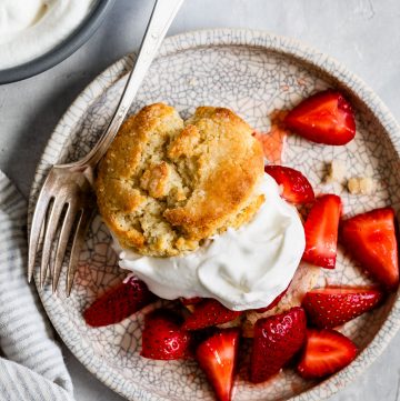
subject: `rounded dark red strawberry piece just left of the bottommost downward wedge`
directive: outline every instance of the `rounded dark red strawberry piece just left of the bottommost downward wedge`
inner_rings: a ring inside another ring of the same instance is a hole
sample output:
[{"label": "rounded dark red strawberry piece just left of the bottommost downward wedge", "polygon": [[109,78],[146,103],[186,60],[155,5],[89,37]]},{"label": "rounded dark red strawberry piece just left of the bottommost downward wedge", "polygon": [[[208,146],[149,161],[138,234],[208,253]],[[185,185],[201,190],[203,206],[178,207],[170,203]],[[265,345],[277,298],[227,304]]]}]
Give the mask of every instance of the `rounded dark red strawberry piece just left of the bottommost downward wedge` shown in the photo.
[{"label": "rounded dark red strawberry piece just left of the bottommost downward wedge", "polygon": [[171,360],[187,357],[190,334],[181,328],[180,315],[158,309],[146,315],[141,355]]}]

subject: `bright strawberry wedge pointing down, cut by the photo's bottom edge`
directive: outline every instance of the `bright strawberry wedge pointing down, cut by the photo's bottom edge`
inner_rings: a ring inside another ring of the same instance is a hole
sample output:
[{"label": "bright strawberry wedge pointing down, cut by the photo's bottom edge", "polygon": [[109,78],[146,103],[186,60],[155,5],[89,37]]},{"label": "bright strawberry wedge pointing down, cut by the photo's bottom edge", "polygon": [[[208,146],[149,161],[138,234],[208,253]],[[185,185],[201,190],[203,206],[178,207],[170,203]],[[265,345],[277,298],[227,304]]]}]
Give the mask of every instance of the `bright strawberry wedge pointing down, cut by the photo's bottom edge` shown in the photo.
[{"label": "bright strawberry wedge pointing down, cut by the photo's bottom edge", "polygon": [[220,401],[231,400],[239,338],[239,329],[219,330],[203,341],[196,352],[197,360]]}]

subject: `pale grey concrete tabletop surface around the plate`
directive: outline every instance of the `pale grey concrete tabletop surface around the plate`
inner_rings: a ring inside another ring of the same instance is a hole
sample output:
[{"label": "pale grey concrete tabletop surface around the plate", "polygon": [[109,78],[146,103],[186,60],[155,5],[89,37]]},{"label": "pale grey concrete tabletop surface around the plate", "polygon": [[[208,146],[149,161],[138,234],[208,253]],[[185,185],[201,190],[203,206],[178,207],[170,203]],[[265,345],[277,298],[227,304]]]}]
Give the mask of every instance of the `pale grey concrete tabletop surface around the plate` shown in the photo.
[{"label": "pale grey concrete tabletop surface around the plate", "polygon": [[[137,49],[152,1],[117,0],[94,37],[36,78],[0,87],[0,169],[27,196],[53,127],[104,68]],[[187,0],[170,34],[216,27],[264,29],[300,39],[359,74],[400,120],[399,0]],[[117,401],[64,348],[78,401]],[[331,401],[399,401],[400,334]]]}]

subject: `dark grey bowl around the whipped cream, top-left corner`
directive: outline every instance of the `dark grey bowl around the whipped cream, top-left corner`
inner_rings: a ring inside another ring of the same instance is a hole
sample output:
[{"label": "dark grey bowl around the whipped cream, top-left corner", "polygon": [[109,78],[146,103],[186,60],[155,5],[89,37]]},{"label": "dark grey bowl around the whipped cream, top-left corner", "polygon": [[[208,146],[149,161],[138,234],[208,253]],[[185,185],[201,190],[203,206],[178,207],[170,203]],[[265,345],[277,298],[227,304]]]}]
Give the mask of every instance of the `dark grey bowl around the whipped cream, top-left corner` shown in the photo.
[{"label": "dark grey bowl around the whipped cream, top-left corner", "polygon": [[96,32],[114,1],[116,0],[98,0],[78,28],[47,53],[23,64],[0,70],[0,84],[33,77],[67,59]]}]

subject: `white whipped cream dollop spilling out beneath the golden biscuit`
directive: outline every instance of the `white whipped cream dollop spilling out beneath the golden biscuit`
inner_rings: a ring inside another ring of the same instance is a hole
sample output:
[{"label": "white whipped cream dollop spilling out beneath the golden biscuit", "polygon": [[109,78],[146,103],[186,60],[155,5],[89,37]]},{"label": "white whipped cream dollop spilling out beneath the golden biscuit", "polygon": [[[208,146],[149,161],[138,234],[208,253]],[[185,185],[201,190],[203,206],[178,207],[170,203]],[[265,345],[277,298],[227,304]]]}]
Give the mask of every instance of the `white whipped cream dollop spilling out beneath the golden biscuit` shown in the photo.
[{"label": "white whipped cream dollop spilling out beneath the golden biscuit", "polygon": [[270,304],[293,278],[306,239],[297,209],[281,199],[277,182],[266,174],[260,187],[266,201],[239,230],[180,257],[143,257],[119,248],[120,267],[168,300],[214,298],[237,311]]}]

